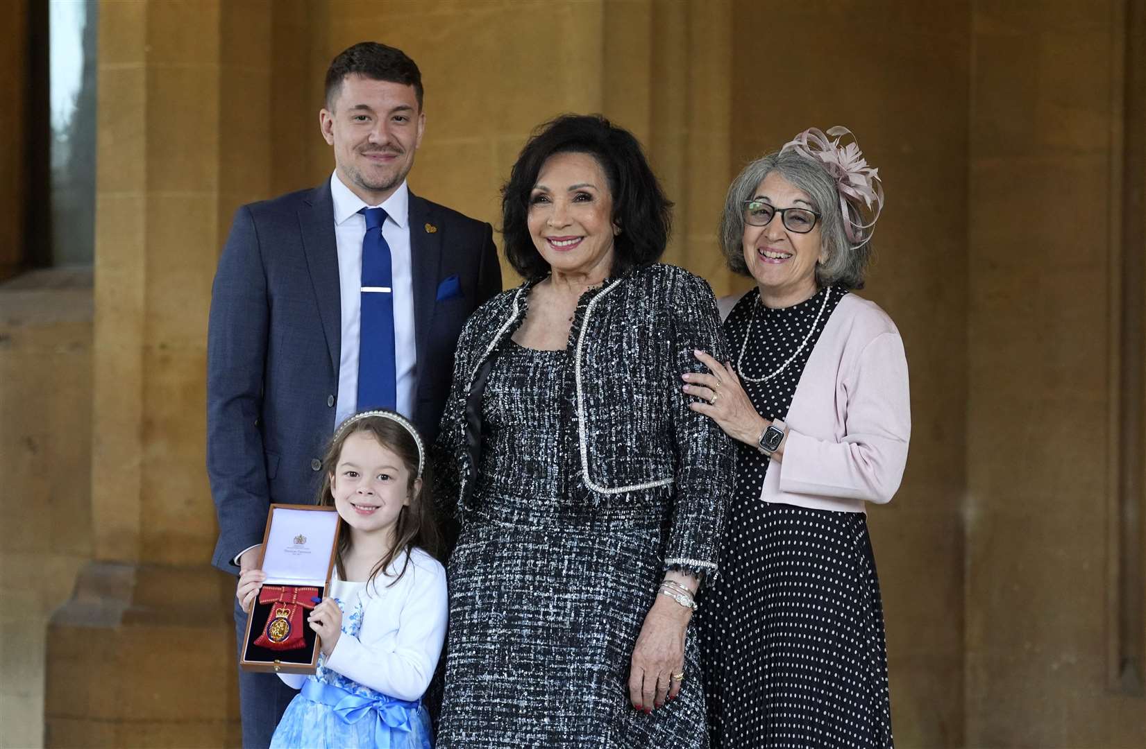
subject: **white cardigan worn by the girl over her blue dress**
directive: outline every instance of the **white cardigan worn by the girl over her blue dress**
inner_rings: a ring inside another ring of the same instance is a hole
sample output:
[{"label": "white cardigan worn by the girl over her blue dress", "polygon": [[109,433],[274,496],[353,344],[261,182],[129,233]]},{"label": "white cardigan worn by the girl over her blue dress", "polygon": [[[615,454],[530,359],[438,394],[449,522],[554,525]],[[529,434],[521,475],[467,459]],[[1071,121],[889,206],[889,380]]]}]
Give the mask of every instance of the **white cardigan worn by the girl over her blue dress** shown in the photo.
[{"label": "white cardigan worn by the girl over her blue dress", "polygon": [[[391,569],[401,569],[405,555]],[[446,570],[437,559],[415,549],[406,574],[378,575],[362,586],[362,626],[358,637],[343,632],[327,659],[325,668],[398,700],[413,702],[430,686],[446,639],[449,605]],[[344,612],[354,610],[353,602]],[[306,675],[280,673],[278,678],[301,689]]]}]

